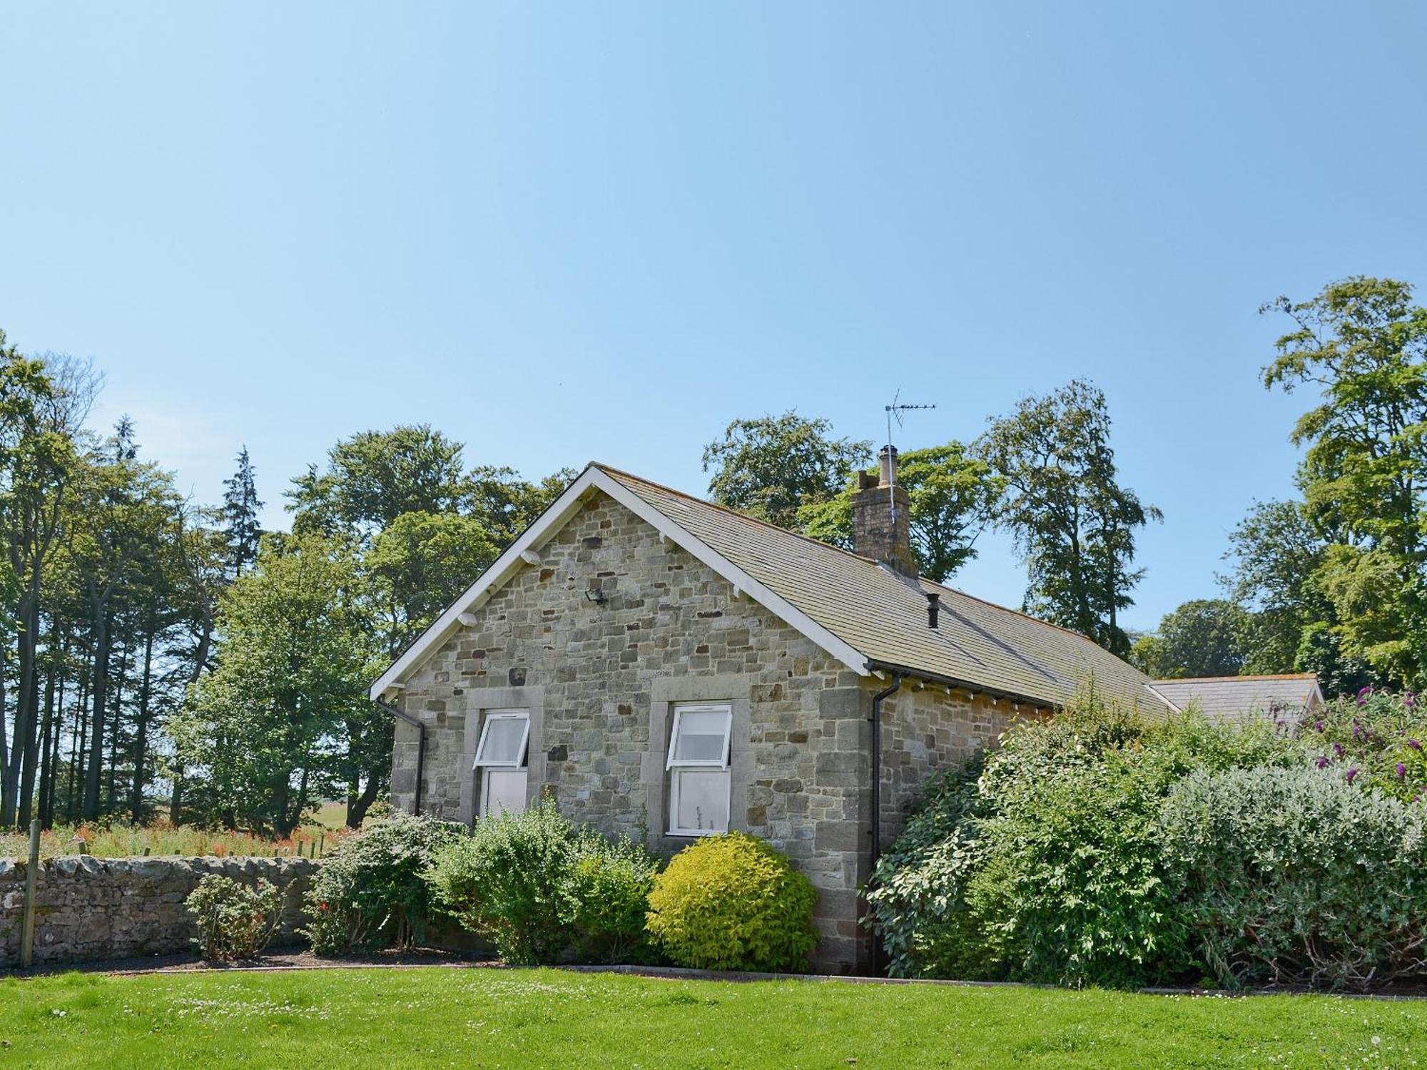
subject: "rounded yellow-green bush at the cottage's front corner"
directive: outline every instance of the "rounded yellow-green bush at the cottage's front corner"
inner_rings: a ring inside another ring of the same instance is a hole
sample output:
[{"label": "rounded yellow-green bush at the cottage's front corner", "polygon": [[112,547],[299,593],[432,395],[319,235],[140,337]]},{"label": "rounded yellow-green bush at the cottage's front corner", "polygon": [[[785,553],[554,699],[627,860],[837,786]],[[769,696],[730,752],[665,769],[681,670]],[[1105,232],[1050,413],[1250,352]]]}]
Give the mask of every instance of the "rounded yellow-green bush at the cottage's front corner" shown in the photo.
[{"label": "rounded yellow-green bush at the cottage's front corner", "polygon": [[818,940],[818,893],[788,859],[731,832],[694,843],[649,893],[648,929],[679,966],[705,970],[802,970]]}]

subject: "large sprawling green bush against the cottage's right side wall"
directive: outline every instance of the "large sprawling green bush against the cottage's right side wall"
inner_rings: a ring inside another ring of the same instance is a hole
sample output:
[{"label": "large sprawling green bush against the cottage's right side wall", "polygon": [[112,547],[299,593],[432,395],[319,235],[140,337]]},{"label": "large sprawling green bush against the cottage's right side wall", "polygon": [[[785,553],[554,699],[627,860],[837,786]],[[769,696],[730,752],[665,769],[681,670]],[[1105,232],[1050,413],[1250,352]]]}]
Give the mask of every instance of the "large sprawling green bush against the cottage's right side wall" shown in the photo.
[{"label": "large sprawling green bush against the cottage's right side wall", "polygon": [[879,859],[870,923],[893,976],[1133,986],[1196,977],[1159,815],[1196,769],[1301,766],[1269,723],[1143,719],[1087,696],[928,782]]}]

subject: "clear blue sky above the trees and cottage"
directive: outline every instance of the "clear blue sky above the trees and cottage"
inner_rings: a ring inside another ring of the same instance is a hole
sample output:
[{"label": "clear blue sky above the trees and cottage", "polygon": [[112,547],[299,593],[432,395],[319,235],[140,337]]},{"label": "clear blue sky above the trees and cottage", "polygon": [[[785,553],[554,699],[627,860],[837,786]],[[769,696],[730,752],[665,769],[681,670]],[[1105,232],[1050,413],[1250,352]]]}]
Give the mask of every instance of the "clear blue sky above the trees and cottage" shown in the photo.
[{"label": "clear blue sky above the trees and cottage", "polygon": [[880,439],[900,387],[929,445],[1085,375],[1153,626],[1291,488],[1257,305],[1427,287],[1423,4],[31,3],[0,47],[0,325],[200,501],[247,442],[270,524],[364,428],[702,492],[733,417]]}]

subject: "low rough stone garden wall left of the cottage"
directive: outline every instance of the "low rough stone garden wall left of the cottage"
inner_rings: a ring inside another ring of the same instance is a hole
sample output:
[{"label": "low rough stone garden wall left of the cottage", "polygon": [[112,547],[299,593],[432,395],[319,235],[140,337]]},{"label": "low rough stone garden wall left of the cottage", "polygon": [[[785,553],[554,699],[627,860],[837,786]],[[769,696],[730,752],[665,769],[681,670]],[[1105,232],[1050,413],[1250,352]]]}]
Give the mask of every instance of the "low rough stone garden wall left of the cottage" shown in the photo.
[{"label": "low rough stone garden wall left of the cottage", "polygon": [[[0,966],[20,960],[27,865],[0,859]],[[303,923],[303,893],[318,865],[290,857],[46,859],[37,885],[34,962],[93,962],[191,950],[197,927],[183,900],[208,873],[248,883],[258,877],[273,882],[283,892],[281,929],[273,943],[291,942]]]}]

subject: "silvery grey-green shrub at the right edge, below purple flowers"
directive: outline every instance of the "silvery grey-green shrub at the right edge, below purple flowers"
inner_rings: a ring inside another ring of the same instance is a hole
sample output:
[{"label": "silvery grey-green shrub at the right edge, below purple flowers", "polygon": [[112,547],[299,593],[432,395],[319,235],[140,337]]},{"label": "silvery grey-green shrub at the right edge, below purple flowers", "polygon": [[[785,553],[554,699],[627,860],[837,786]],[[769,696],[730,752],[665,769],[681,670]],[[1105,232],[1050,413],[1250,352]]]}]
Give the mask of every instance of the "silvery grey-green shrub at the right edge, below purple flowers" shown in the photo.
[{"label": "silvery grey-green shrub at the right edge, below purple flowers", "polygon": [[1222,983],[1370,989],[1427,973],[1420,805],[1330,768],[1200,772],[1166,800],[1162,835]]}]

